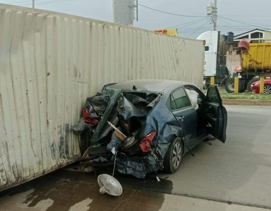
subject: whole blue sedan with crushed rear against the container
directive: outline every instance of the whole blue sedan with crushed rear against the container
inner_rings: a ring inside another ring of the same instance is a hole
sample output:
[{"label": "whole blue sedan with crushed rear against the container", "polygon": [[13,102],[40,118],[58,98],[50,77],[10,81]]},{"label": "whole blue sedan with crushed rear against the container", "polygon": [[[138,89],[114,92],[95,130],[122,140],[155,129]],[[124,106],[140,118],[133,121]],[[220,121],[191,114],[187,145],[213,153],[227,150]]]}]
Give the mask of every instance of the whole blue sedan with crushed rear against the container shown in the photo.
[{"label": "whole blue sedan with crushed rear against the container", "polygon": [[216,86],[206,96],[194,85],[173,80],[129,80],[106,85],[89,97],[80,134],[85,171],[111,168],[145,178],[174,173],[185,153],[212,136],[226,140],[227,111]]}]

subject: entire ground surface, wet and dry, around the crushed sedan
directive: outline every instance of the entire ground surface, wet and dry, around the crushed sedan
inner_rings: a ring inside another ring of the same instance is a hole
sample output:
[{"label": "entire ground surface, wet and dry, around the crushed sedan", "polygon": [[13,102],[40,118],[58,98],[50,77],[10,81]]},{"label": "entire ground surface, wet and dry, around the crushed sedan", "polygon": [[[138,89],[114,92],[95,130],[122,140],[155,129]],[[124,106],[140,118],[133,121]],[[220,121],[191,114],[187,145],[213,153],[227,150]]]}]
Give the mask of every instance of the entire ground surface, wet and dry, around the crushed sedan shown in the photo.
[{"label": "entire ground surface, wet and dry, around the crushed sedan", "polygon": [[271,107],[226,109],[225,144],[201,143],[193,149],[194,157],[184,156],[177,172],[158,174],[160,182],[115,175],[124,192],[112,198],[99,194],[96,178],[101,171],[86,174],[69,166],[79,172],[58,170],[0,192],[0,210],[271,209]]}]

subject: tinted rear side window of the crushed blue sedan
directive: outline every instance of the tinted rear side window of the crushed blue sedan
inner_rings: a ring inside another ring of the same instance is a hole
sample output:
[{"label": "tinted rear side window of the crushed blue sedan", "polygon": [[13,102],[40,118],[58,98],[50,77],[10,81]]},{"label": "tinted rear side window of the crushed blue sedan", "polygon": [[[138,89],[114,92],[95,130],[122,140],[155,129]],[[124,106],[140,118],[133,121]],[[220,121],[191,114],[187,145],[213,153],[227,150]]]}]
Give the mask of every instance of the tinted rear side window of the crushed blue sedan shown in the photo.
[{"label": "tinted rear side window of the crushed blue sedan", "polygon": [[184,91],[184,88],[175,90],[171,96],[171,110],[182,109],[191,106],[191,103]]}]

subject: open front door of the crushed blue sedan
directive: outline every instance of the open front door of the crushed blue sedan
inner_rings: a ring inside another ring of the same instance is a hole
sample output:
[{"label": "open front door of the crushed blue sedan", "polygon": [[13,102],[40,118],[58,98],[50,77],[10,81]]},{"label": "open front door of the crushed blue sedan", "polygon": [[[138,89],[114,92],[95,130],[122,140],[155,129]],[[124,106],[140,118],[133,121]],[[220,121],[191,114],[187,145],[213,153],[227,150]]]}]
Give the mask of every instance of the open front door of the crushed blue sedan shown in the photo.
[{"label": "open front door of the crushed blue sedan", "polygon": [[207,131],[225,143],[227,128],[227,111],[216,86],[210,86],[206,94],[206,126]]}]

